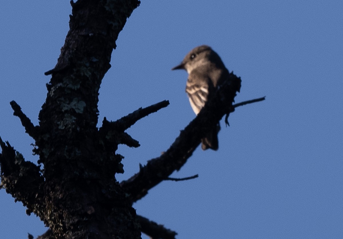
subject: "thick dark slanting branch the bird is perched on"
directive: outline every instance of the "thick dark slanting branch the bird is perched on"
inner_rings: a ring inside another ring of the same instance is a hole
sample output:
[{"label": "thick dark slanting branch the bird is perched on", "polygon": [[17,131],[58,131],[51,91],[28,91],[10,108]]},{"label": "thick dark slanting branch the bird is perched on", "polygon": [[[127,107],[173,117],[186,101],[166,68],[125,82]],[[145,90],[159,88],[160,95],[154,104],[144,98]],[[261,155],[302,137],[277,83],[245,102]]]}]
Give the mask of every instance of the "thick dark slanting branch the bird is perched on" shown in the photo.
[{"label": "thick dark slanting branch the bird is perched on", "polygon": [[230,73],[228,80],[218,83],[214,97],[206,102],[197,117],[180,132],[170,148],[161,156],[149,160],[137,174],[120,183],[133,202],[144,197],[149,189],[167,179],[186,163],[213,125],[232,111],[234,97],[240,90],[240,82],[239,77]]}]

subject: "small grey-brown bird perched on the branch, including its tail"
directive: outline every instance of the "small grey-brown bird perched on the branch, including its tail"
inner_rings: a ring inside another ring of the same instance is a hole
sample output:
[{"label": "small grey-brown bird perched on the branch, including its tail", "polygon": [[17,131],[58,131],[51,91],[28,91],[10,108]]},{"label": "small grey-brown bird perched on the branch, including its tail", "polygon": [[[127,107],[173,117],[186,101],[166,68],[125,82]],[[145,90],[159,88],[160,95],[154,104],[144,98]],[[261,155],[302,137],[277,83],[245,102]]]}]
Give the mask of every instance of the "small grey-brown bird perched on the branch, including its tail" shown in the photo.
[{"label": "small grey-brown bird perched on the branch, including its tail", "polygon": [[[220,56],[206,45],[193,48],[188,52],[181,64],[171,70],[178,69],[186,70],[188,73],[186,93],[196,115],[204,107],[205,102],[213,97],[218,82],[229,78],[229,71]],[[201,139],[201,148],[203,150],[218,149],[219,130],[220,125],[218,123]]]}]

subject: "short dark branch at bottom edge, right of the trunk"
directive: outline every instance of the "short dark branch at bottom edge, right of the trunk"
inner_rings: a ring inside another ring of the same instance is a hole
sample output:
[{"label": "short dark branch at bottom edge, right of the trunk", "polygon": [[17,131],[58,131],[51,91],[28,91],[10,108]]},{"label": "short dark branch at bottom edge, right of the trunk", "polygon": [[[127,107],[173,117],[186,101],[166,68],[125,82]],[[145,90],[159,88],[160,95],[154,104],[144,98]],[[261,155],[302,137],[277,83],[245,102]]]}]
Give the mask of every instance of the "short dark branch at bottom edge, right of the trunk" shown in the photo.
[{"label": "short dark branch at bottom edge, right of the trunk", "polygon": [[153,239],[175,239],[177,235],[175,231],[166,229],[163,225],[150,221],[145,217],[137,215],[137,218],[141,224],[142,232]]}]

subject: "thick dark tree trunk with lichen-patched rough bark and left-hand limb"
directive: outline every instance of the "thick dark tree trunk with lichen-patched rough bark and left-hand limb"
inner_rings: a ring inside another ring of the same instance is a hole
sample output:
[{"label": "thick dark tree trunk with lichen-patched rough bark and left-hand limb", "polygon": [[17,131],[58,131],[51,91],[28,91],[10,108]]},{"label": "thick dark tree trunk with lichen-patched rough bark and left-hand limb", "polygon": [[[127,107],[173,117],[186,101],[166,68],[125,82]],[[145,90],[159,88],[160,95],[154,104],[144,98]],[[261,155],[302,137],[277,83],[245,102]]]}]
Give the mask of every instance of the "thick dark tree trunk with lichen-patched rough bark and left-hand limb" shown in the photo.
[{"label": "thick dark tree trunk with lichen-patched rough bark and left-hand limb", "polygon": [[[118,34],[139,3],[71,2],[70,30],[55,68],[46,72],[51,79],[39,127],[26,123],[43,171],[1,141],[2,186],[56,238],[141,236],[135,210],[115,179],[115,173],[122,172],[122,156],[115,153],[116,146],[107,146],[96,127],[100,83],[110,68]],[[23,116],[21,120],[25,122]],[[16,178],[17,183],[9,183]],[[36,197],[25,193],[21,181]]]}]

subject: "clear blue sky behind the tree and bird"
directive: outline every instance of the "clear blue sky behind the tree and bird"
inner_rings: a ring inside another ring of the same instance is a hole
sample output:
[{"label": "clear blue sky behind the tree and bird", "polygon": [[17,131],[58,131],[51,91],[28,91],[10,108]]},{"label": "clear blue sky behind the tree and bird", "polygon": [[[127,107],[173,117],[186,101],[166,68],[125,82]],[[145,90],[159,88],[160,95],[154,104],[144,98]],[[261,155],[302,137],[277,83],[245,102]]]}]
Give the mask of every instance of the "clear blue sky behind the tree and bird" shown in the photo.
[{"label": "clear blue sky behind the tree and bird", "polygon": [[[195,117],[187,73],[171,71],[207,44],[241,77],[237,108],[219,150],[194,152],[173,177],[134,204],[177,238],[343,238],[343,1],[142,0],[119,34],[103,79],[99,122],[162,100],[170,105],[133,125],[141,147],[120,146],[125,173],[159,156]],[[68,32],[69,1],[1,1],[0,136],[32,155],[9,102],[34,124]],[[100,124],[99,124],[100,125]],[[47,228],[0,190],[0,238]],[[147,238],[143,236],[143,238]]]}]

